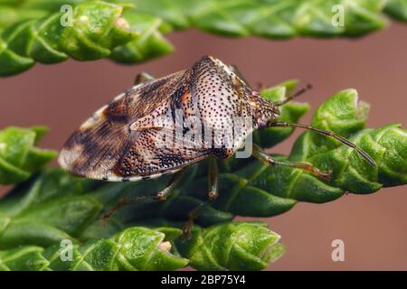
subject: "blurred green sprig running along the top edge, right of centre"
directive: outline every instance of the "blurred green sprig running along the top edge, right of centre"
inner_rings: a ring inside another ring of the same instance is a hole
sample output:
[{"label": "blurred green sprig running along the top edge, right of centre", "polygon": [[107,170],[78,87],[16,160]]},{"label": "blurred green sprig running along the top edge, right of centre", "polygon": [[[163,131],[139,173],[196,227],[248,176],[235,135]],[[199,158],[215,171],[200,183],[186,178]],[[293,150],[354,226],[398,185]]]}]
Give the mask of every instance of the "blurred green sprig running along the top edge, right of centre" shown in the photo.
[{"label": "blurred green sprig running along the top edge, right of centre", "polygon": [[[382,0],[129,0],[175,29],[189,26],[227,36],[273,39],[298,35],[357,36],[383,28]],[[340,5],[340,7],[338,6]],[[342,17],[344,15],[344,17]],[[343,22],[342,22],[343,19]]]}]

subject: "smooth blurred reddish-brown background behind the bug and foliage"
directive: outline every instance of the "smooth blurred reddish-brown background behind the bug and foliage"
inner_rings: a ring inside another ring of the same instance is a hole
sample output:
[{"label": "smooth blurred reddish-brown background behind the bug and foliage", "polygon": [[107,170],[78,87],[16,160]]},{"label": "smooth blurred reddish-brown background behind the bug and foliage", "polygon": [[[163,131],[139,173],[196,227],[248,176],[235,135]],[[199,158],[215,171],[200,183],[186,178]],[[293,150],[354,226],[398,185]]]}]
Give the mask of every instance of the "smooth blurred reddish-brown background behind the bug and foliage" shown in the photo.
[{"label": "smooth blurred reddish-brown background behind the bug and foliage", "polygon": [[[47,125],[43,147],[63,142],[94,110],[132,85],[137,72],[163,76],[185,69],[204,54],[240,67],[252,84],[301,79],[314,85],[301,100],[315,109],[340,89],[355,88],[372,104],[369,126],[406,125],[407,26],[356,40],[221,38],[194,30],[173,33],[174,54],[134,66],[111,61],[36,65],[0,79],[0,127]],[[303,123],[310,120],[308,114]],[[298,135],[299,132],[296,133]],[[289,153],[295,137],[276,147]],[[3,189],[5,191],[5,189]],[[407,270],[407,187],[372,195],[345,195],[317,205],[298,203],[270,219],[288,251],[270,270]],[[345,241],[345,262],[333,262],[331,242]]]}]

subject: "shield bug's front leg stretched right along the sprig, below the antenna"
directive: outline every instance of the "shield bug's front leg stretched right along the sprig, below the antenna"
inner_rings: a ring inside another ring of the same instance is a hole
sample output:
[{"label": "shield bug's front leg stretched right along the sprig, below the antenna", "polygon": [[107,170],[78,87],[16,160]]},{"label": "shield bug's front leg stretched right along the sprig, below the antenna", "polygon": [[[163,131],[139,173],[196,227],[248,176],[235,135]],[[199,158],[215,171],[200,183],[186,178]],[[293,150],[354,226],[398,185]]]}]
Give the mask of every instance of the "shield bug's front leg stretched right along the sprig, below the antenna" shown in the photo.
[{"label": "shield bug's front leg stretched right along the sprig, below the antenna", "polygon": [[307,172],[310,172],[316,175],[319,178],[329,180],[332,172],[321,172],[317,168],[313,167],[310,163],[303,162],[287,162],[287,161],[278,161],[273,159],[270,154],[264,152],[259,145],[253,144],[253,156],[260,160],[263,163],[268,163],[273,166],[285,166],[294,169],[301,169]]}]

